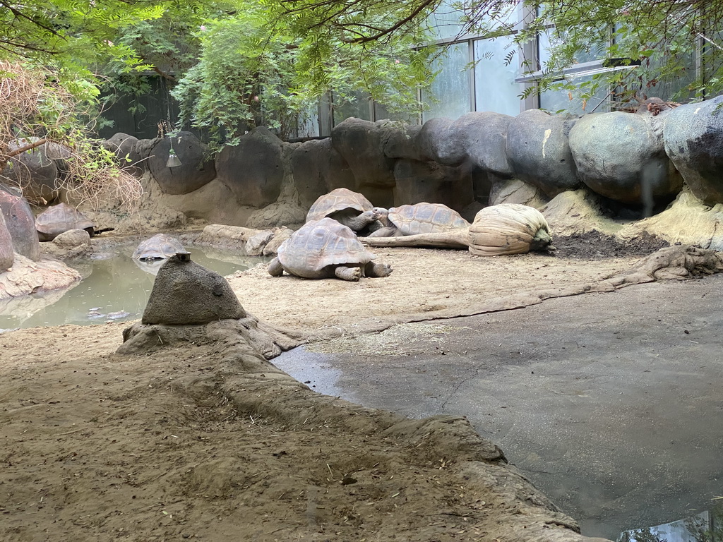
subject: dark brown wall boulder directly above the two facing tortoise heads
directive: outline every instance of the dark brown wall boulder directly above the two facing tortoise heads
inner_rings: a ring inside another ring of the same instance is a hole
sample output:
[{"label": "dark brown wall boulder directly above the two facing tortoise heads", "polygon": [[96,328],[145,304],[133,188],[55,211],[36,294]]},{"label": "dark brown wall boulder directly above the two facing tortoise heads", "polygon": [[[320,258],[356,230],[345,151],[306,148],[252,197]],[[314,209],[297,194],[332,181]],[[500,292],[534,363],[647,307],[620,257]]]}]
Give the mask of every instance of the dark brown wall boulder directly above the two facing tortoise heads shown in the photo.
[{"label": "dark brown wall boulder directly above the two facing tortoise heads", "polygon": [[331,130],[331,144],[348,163],[356,181],[355,186],[346,188],[361,192],[367,197],[367,187],[394,188],[394,160],[385,156],[382,151],[382,135],[387,124],[386,121],[375,123],[351,117]]}]

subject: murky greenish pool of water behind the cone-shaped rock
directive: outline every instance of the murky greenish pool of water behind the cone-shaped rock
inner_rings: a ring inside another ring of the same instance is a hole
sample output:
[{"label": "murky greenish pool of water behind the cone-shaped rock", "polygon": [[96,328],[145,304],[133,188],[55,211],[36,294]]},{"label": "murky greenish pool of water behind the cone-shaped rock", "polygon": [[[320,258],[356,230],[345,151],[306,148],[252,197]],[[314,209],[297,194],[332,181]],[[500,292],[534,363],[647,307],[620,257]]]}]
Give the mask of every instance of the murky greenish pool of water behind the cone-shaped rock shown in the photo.
[{"label": "murky greenish pool of water behind the cone-shaped rock", "polygon": [[[134,249],[134,245],[121,246],[112,252],[94,254],[93,259],[68,262],[80,272],[82,280],[67,290],[0,302],[0,332],[140,319],[155,273],[163,262],[137,262],[131,257]],[[190,246],[187,250],[194,262],[223,276],[268,261],[208,247]]]}]

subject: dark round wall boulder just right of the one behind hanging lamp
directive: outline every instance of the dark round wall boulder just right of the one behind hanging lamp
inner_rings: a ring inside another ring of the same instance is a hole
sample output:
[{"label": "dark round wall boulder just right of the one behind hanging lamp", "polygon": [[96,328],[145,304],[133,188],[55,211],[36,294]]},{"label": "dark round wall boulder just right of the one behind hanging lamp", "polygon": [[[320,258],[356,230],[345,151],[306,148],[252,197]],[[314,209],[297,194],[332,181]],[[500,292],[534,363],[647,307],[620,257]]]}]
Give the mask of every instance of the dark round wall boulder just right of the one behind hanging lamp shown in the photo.
[{"label": "dark round wall boulder just right of the one behind hanging lamp", "polygon": [[263,126],[252,129],[239,145],[223,147],[216,172],[239,205],[261,208],[275,202],[284,178],[281,139]]}]

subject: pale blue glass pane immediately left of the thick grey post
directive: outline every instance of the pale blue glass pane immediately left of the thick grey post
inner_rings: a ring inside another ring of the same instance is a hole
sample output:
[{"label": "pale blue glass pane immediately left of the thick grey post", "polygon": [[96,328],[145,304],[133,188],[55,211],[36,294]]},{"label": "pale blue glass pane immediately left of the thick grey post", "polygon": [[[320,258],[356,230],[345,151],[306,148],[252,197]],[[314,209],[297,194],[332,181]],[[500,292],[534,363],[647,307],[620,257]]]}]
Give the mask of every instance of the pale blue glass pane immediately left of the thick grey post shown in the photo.
[{"label": "pale blue glass pane immediately left of the thick grey post", "polygon": [[519,48],[511,36],[474,41],[474,98],[476,111],[515,116],[521,111]]}]

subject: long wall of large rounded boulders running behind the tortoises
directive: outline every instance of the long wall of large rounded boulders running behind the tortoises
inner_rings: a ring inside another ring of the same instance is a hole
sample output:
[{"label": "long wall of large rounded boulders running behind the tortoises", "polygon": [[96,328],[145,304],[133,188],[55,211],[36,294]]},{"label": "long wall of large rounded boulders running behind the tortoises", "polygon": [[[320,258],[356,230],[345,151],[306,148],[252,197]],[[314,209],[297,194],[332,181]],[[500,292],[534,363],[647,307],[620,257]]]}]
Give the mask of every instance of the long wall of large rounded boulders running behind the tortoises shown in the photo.
[{"label": "long wall of large rounded boulders running behind the tortoises", "polygon": [[[146,214],[164,215],[168,227],[198,218],[296,228],[317,197],[340,187],[380,207],[443,203],[467,220],[485,205],[542,209],[583,191],[579,200],[603,215],[638,219],[659,214],[683,189],[698,205],[723,203],[722,106],[723,96],[677,108],[651,98],[637,112],[582,117],[475,112],[422,126],[352,118],[328,138],[295,143],[258,127],[213,160],[188,132],[143,140],[116,134],[104,145],[143,176],[145,199],[153,199],[143,204]],[[168,167],[171,149],[181,165]],[[52,184],[45,170],[38,179]],[[574,200],[550,208],[574,215]]]}]

